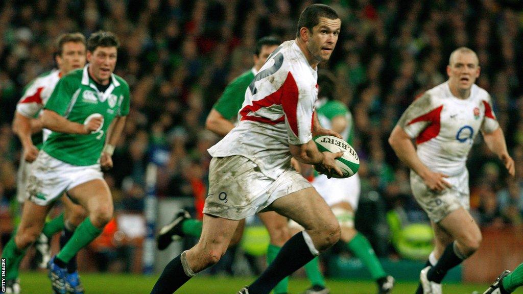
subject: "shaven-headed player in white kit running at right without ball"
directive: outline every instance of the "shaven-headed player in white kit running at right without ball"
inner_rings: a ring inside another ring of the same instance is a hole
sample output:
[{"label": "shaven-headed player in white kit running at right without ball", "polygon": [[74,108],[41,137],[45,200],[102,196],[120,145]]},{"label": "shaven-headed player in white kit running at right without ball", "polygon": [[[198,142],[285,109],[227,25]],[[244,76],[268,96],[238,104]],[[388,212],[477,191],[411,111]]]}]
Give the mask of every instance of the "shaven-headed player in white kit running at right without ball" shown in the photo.
[{"label": "shaven-headed player in white kit running at right without ball", "polygon": [[[389,143],[411,168],[411,188],[427,212],[435,233],[435,248],[420,273],[416,293],[441,293],[447,271],[471,256],[481,232],[469,213],[467,155],[481,131],[510,175],[514,161],[507,151],[488,93],[474,84],[480,75],[477,55],[461,47],[452,52],[447,82],[416,99],[393,129]],[[412,140],[416,140],[417,149]]]}]

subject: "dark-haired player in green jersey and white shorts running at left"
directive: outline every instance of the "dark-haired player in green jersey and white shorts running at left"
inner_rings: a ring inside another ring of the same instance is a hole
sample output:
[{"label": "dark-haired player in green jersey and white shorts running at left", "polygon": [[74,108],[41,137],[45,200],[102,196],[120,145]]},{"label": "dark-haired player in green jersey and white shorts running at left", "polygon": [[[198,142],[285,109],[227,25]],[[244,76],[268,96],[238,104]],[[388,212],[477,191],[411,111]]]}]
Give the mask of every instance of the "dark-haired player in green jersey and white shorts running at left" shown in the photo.
[{"label": "dark-haired player in green jersey and white shorts running at left", "polygon": [[129,86],[115,70],[119,42],[110,32],[93,33],[87,41],[87,64],[56,85],[42,125],[52,133],[29,176],[29,200],[16,235],[26,248],[39,235],[52,204],[64,191],[87,210],[88,217],[71,240],[49,262],[55,293],[73,292],[77,275],[66,264],[93,241],[112,218],[112,197],[101,168],[112,167],[112,153],[129,113]]}]

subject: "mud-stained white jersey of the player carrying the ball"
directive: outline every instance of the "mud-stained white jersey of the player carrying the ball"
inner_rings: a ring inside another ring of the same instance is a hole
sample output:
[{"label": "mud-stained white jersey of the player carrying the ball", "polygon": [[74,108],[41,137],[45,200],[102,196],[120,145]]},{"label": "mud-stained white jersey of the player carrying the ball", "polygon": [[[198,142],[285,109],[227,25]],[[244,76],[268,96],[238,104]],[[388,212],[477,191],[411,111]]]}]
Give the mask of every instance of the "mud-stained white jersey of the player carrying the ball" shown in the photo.
[{"label": "mud-stained white jersey of the player carrying the ball", "polygon": [[295,41],[271,53],[245,92],[240,122],[208,151],[214,157],[242,155],[276,179],[290,167],[289,144],[312,139],[317,72]]}]

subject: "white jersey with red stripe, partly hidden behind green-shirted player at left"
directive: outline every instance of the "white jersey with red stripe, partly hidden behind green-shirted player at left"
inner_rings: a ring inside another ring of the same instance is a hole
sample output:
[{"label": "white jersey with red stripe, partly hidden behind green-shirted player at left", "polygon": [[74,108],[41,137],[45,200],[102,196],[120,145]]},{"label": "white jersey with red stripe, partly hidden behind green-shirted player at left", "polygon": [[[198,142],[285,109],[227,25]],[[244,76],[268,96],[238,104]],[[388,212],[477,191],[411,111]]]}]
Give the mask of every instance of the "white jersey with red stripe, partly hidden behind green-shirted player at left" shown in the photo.
[{"label": "white jersey with red stripe, partly hidden behind green-shirted player at left", "polygon": [[62,77],[60,70],[52,70],[33,80],[16,105],[16,111],[28,118],[37,118]]}]

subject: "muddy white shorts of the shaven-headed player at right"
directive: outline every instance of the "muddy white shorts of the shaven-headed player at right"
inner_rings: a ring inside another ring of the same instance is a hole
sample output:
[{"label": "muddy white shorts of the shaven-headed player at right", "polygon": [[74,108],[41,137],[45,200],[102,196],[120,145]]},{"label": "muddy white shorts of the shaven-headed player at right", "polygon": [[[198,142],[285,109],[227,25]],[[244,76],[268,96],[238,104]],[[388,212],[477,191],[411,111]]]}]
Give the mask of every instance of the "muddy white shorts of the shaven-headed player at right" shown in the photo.
[{"label": "muddy white shorts of the shaven-headed player at right", "polygon": [[441,192],[428,189],[423,179],[411,171],[412,194],[419,206],[427,212],[430,220],[439,222],[454,210],[463,207],[470,209],[469,172],[464,171],[456,176],[445,178],[452,185]]}]

